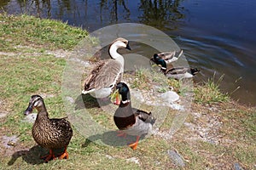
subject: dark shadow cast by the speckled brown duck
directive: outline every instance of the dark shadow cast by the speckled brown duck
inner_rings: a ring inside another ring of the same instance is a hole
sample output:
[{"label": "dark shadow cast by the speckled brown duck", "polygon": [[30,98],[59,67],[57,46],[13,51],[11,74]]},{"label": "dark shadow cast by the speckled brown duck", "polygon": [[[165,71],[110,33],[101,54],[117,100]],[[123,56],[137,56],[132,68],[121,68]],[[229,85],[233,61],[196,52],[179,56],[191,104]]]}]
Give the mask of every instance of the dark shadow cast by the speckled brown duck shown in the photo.
[{"label": "dark shadow cast by the speckled brown duck", "polygon": [[44,163],[43,159],[40,159],[40,156],[47,155],[48,151],[42,148],[39,145],[33,146],[30,150],[20,150],[16,151],[11,160],[8,162],[8,165],[11,166],[15,161],[21,156],[24,161],[32,165],[37,165]]}]

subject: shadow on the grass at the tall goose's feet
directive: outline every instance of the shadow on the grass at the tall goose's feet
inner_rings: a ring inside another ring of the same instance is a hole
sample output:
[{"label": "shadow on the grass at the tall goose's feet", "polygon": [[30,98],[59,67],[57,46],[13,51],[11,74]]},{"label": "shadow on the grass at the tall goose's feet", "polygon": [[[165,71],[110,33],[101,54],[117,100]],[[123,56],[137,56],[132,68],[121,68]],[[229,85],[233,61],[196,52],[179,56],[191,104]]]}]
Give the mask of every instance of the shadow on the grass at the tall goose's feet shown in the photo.
[{"label": "shadow on the grass at the tall goose's feet", "polygon": [[111,104],[110,99],[95,99],[90,94],[80,94],[75,100],[75,110],[82,110],[84,108],[100,108],[104,105]]}]

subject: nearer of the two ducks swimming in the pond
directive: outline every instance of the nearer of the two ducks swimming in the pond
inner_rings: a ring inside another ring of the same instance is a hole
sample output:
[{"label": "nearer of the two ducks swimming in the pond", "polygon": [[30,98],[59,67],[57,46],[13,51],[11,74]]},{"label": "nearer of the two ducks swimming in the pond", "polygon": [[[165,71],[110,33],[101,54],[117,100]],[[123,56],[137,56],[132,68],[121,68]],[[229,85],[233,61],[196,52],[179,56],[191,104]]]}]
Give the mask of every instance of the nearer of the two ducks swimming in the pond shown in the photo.
[{"label": "nearer of the two ducks swimming in the pond", "polygon": [[194,77],[200,71],[197,68],[188,68],[182,66],[167,69],[167,65],[164,59],[157,59],[155,63],[160,65],[160,71],[162,71],[166,77],[174,78],[177,80]]}]

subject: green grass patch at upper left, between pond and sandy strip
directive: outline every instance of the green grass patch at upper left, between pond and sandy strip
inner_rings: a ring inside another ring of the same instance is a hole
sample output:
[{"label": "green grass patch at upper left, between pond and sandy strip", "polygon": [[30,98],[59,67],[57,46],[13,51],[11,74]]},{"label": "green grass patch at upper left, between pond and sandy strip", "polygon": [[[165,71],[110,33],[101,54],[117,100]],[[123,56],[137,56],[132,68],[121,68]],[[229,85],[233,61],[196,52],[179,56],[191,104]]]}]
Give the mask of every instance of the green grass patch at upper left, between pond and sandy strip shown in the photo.
[{"label": "green grass patch at upper left, between pond and sandy strip", "polygon": [[41,20],[22,14],[0,14],[1,51],[16,51],[17,46],[44,46],[72,49],[88,32],[57,20]]}]

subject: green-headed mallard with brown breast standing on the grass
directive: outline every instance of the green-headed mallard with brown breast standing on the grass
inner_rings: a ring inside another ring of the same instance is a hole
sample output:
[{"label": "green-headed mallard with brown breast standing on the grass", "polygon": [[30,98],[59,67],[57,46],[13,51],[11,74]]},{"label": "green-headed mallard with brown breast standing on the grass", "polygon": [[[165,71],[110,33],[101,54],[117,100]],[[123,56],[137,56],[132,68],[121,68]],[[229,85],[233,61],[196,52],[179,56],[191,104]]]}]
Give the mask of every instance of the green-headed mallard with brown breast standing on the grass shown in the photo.
[{"label": "green-headed mallard with brown breast standing on the grass", "polygon": [[137,140],[129,146],[135,150],[138,141],[143,134],[147,134],[155,122],[151,112],[137,110],[131,107],[131,95],[128,86],[124,82],[119,82],[116,86],[117,94],[121,95],[119,108],[115,111],[113,121],[119,128],[121,135],[129,134],[137,136]]}]

